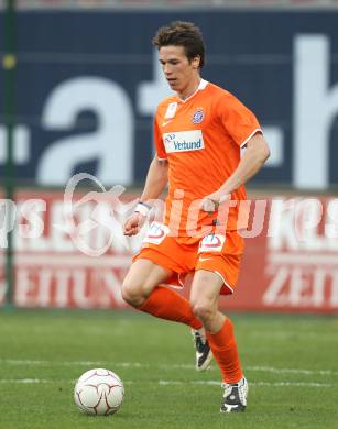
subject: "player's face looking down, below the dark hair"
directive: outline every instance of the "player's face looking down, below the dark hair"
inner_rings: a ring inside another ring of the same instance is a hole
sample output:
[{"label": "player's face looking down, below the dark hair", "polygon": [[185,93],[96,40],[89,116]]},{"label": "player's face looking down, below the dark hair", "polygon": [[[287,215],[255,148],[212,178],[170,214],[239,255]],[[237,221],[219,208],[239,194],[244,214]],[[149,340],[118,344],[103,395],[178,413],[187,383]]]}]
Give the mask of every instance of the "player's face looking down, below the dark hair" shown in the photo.
[{"label": "player's face looking down, below the dark hair", "polygon": [[179,96],[188,97],[198,86],[200,76],[198,72],[199,57],[189,61],[183,46],[162,46],[159,59],[164,76]]}]

